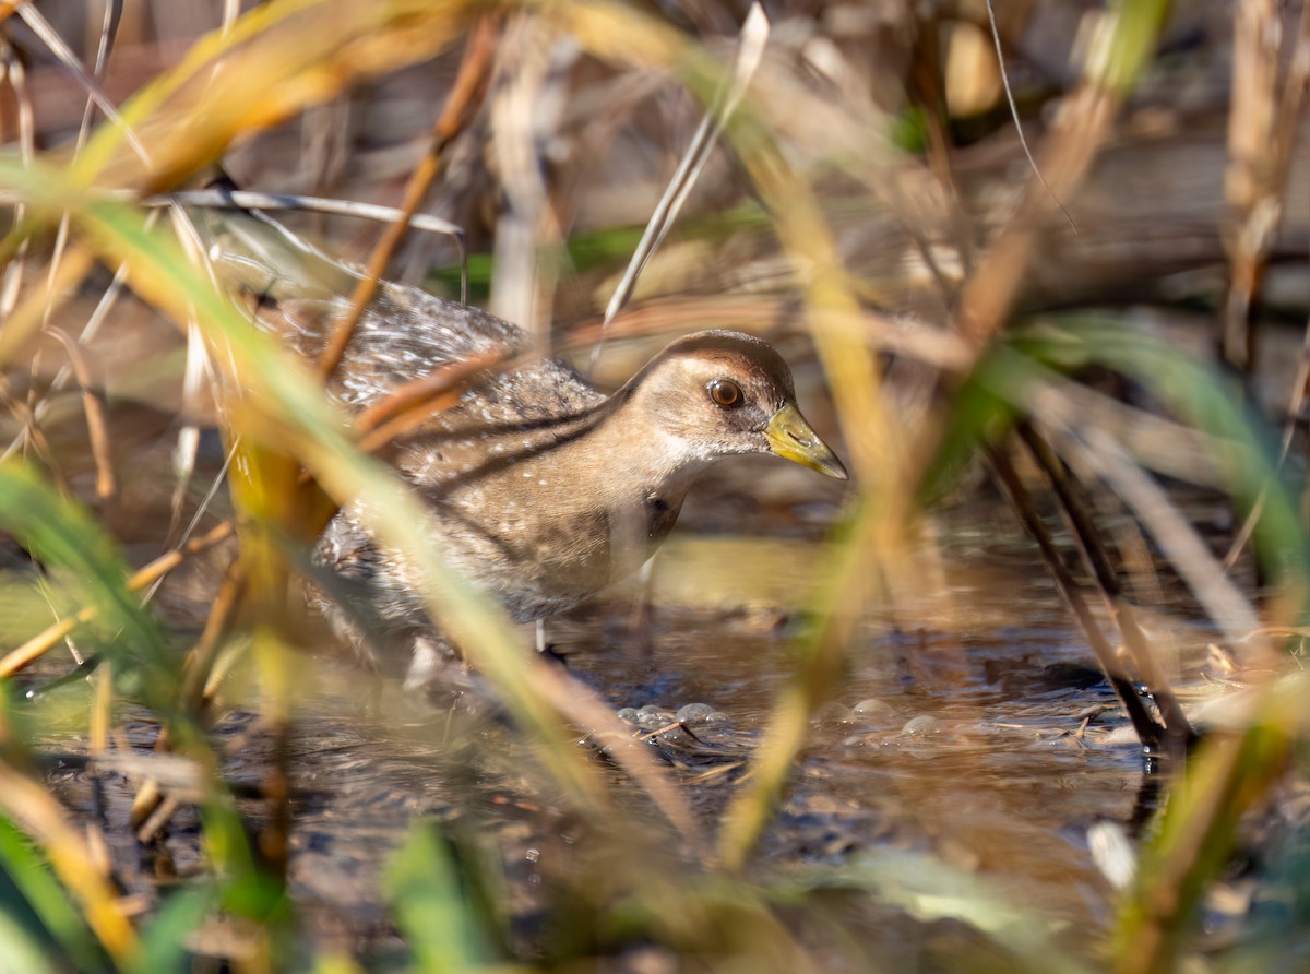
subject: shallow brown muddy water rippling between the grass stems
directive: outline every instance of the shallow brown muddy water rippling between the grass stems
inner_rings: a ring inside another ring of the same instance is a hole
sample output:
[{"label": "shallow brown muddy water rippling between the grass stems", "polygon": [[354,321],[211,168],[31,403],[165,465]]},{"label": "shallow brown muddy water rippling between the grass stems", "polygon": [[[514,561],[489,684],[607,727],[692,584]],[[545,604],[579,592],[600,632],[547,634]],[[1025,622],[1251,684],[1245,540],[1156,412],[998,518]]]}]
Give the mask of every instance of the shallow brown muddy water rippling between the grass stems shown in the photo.
[{"label": "shallow brown muddy water rippling between the grass stems", "polygon": [[[979,880],[1007,906],[1051,922],[1066,945],[1090,949],[1106,932],[1114,894],[1091,864],[1086,830],[1138,814],[1142,764],[1036,555],[1006,524],[998,506],[943,515],[933,549],[934,564],[945,566],[939,591],[917,606],[871,606],[758,863],[768,876],[807,884],[832,868],[876,873],[886,856],[907,855],[896,861],[909,863],[910,882],[925,864],[938,864],[948,877]],[[651,747],[710,834],[804,636],[795,608],[821,561],[815,534],[802,526],[768,543],[688,535],[656,564],[645,616],[634,615],[629,589],[549,627],[570,670],[634,733],[703,704],[694,737],[672,731]],[[745,569],[761,564],[755,575],[762,581]],[[1195,682],[1204,631],[1163,615],[1157,628],[1178,671]],[[75,709],[85,691],[60,693]],[[254,711],[255,699],[246,697],[216,729],[231,755],[229,779],[252,793],[269,758]],[[145,720],[126,729],[139,754],[157,731]],[[79,814],[102,821],[131,891],[151,901],[161,884],[202,868],[191,811],[183,808],[166,836],[143,849],[127,827],[130,777],[105,776],[97,811],[76,767],[79,738],[60,735],[51,745],[71,760],[51,780]],[[595,865],[576,848],[578,823],[532,766],[496,720],[452,722],[352,667],[307,659],[291,755],[291,880],[314,936],[341,939],[352,950],[392,943],[381,870],[414,819],[434,817],[455,835],[491,842],[515,928],[531,945],[544,890]],[[621,772],[609,773],[633,821],[652,834],[663,827],[638,789]],[[262,821],[257,798],[242,808]],[[939,932],[876,899],[853,916],[874,954],[907,964],[924,937]]]}]

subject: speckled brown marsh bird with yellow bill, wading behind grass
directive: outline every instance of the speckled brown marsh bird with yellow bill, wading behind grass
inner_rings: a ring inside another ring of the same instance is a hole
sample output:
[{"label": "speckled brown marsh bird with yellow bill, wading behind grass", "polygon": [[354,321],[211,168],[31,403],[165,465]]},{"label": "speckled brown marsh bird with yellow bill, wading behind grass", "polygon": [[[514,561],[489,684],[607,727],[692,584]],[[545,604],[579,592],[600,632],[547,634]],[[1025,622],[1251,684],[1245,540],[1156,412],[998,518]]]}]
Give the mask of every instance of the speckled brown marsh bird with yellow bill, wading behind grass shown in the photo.
[{"label": "speckled brown marsh bird with yellow bill, wading behind grass", "polygon": [[[211,261],[261,328],[316,358],[362,271],[266,214],[234,212],[200,222]],[[381,281],[328,384],[359,413],[432,370],[506,363],[394,439],[389,460],[423,501],[422,530],[441,556],[515,621],[575,608],[634,573],[696,477],[723,458],[772,454],[848,478],[802,416],[790,367],[761,338],[680,337],[610,395],[532,350],[508,321]],[[363,499],[333,516],[313,549],[330,582],[310,602],[369,665],[430,690],[462,657],[428,617],[418,569],[367,524]]]}]

